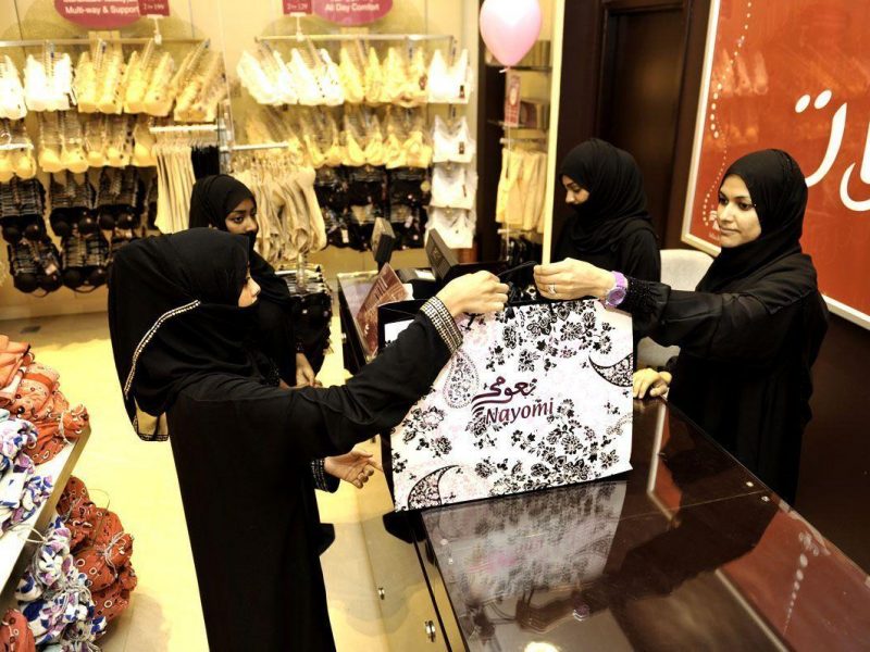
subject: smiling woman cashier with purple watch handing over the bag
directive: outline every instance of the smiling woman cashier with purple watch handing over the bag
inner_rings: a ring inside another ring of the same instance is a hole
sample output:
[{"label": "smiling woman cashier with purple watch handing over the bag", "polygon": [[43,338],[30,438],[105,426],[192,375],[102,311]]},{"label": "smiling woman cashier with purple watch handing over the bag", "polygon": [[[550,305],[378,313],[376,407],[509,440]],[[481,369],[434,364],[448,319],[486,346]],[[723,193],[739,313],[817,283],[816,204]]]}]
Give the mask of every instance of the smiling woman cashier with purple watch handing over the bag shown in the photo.
[{"label": "smiling woman cashier with purple watch handing over the bag", "polygon": [[[635,329],[679,344],[669,373],[635,375],[635,396],[660,396],[747,468],[794,501],[800,442],[810,419],[810,368],[828,328],[812,260],[800,249],[807,185],[786,152],[737,160],[719,191],[722,251],[694,292],[629,277],[620,310]],[[620,279],[579,265],[535,269],[545,297],[616,297]]]}]

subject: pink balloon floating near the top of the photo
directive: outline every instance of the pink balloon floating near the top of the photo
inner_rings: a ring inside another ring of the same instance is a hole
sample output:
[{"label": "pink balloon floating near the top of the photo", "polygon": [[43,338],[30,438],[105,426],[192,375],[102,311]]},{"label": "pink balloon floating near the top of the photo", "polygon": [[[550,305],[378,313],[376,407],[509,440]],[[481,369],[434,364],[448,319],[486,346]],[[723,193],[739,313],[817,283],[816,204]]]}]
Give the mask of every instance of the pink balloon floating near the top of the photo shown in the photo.
[{"label": "pink balloon floating near the top of the photo", "polygon": [[501,65],[515,65],[540,34],[538,0],[484,0],[481,36]]}]

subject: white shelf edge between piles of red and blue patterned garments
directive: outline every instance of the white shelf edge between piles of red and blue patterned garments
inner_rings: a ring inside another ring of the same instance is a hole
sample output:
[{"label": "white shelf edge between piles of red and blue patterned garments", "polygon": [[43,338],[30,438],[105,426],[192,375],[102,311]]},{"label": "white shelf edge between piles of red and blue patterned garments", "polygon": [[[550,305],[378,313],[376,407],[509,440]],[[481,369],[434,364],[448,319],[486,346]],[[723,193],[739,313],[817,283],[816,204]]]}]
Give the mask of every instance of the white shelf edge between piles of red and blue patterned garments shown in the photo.
[{"label": "white shelf edge between piles of red and blue patterned garments", "polygon": [[36,529],[41,532],[54,516],[58,500],[89,437],[90,428],[86,428],[75,442],[69,443],[53,460],[36,467],[38,475],[51,476],[53,488],[46,502],[30,518],[0,537],[0,586],[3,587],[0,592],[0,609],[12,606],[18,578],[36,551],[37,544],[28,540],[36,538],[32,531]]}]

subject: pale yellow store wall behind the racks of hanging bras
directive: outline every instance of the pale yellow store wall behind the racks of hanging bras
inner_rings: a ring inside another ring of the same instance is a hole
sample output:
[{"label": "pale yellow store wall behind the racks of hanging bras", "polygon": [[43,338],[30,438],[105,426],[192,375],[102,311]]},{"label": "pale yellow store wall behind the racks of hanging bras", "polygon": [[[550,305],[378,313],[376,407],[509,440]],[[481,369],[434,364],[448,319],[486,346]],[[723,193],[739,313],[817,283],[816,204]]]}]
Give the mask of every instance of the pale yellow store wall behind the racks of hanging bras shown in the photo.
[{"label": "pale yellow store wall behind the racks of hanging bras", "polygon": [[[245,49],[253,48],[254,37],[264,35],[295,34],[296,20],[284,16],[282,0],[171,0],[170,17],[160,21],[160,30],[165,37],[208,38],[211,47],[224,52],[232,114],[234,123],[243,123],[253,108],[246,97],[235,74],[236,64]],[[339,29],[313,16],[301,20],[302,30],[309,34],[336,33]],[[469,47],[472,70],[477,67],[477,12],[474,3],[462,0],[400,0],[384,18],[363,27],[373,33],[423,33],[449,34],[457,38],[460,47]],[[121,30],[123,36],[147,37],[153,33],[153,23],[139,20]],[[52,0],[0,0],[0,39],[45,39],[86,37],[87,29],[65,21],[58,15]],[[167,46],[170,47],[170,46]],[[190,46],[173,47],[176,60]],[[71,53],[80,48],[61,48]],[[27,53],[37,53],[28,49]],[[17,65],[24,63],[24,50],[10,49],[8,53]],[[476,103],[463,109],[472,133],[476,130]],[[33,121],[33,122],[30,122]],[[38,133],[33,117],[28,118],[28,130]],[[238,129],[237,129],[238,130]],[[45,178],[42,178],[45,183]],[[5,242],[0,247],[0,319],[24,318],[55,314],[79,314],[105,309],[105,288],[82,294],[62,288],[45,298],[18,292],[12,287],[8,275],[9,262]],[[408,258],[408,256],[406,256]],[[368,253],[341,250],[327,251],[312,256],[336,268],[360,269],[373,266]],[[328,271],[327,271],[328,272]]]}]

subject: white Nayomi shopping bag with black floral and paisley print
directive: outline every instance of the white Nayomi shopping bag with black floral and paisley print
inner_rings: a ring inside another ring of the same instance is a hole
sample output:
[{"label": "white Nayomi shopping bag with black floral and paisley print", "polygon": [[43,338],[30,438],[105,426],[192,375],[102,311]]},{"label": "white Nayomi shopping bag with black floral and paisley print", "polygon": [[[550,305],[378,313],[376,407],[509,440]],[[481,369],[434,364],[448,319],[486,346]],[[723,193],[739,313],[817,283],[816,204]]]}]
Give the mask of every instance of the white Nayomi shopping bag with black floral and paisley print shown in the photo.
[{"label": "white Nayomi shopping bag with black floral and paisley print", "polygon": [[397,511],[631,468],[632,322],[598,301],[460,323],[462,346],[390,435]]}]

